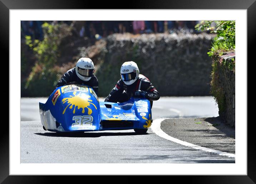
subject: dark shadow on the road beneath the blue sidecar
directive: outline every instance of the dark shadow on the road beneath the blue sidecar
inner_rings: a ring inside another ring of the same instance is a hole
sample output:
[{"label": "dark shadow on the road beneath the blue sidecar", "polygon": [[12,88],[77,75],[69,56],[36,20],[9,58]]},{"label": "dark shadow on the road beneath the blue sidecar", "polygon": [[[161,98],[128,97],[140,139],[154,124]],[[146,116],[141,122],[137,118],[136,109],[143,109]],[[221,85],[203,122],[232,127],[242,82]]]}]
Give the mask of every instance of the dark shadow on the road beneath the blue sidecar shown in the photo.
[{"label": "dark shadow on the road beneath the blue sidecar", "polygon": [[100,132],[100,133],[88,133],[88,132],[70,132],[70,133],[56,133],[56,132],[47,132],[47,133],[34,133],[39,136],[49,136],[49,137],[102,137],[102,136],[138,136],[138,135],[149,135],[138,134],[136,132]]}]

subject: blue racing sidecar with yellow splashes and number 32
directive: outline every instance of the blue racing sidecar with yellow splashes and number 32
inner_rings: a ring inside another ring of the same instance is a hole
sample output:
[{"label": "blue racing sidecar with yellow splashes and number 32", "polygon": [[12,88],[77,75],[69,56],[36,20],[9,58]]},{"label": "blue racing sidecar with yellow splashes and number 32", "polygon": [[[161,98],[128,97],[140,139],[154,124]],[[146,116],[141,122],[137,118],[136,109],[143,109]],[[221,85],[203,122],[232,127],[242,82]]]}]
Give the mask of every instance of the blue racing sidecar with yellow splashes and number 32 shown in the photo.
[{"label": "blue racing sidecar with yellow splashes and number 32", "polygon": [[99,102],[93,89],[82,85],[58,87],[39,109],[41,123],[52,132],[148,129],[152,123],[148,99]]}]

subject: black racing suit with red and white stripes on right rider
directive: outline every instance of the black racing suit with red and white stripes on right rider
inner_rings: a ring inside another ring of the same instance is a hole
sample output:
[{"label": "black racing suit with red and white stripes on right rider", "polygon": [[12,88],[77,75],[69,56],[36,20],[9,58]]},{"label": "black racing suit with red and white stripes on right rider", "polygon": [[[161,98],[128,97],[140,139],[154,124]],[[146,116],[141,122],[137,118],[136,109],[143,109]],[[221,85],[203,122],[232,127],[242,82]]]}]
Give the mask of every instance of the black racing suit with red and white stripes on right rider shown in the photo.
[{"label": "black racing suit with red and white stripes on right rider", "polygon": [[152,85],[152,83],[148,80],[147,77],[143,75],[139,75],[139,78],[132,85],[125,85],[122,79],[117,82],[117,85],[113,88],[113,90],[109,93],[105,102],[125,102],[128,101],[131,97],[134,96],[134,92],[136,90],[145,91],[145,97],[149,99],[151,103],[151,108],[153,101],[158,100],[160,98],[159,92]]}]

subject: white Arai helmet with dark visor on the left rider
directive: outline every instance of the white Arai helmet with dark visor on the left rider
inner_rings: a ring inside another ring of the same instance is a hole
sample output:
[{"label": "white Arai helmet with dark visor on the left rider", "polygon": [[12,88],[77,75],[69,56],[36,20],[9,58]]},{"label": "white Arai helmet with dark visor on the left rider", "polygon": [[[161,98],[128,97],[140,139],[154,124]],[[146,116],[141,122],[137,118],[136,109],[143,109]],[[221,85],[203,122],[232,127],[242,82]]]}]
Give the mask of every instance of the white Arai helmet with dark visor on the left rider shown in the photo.
[{"label": "white Arai helmet with dark visor on the left rider", "polygon": [[77,76],[83,81],[89,81],[94,72],[94,64],[88,57],[82,57],[75,65],[75,72]]}]

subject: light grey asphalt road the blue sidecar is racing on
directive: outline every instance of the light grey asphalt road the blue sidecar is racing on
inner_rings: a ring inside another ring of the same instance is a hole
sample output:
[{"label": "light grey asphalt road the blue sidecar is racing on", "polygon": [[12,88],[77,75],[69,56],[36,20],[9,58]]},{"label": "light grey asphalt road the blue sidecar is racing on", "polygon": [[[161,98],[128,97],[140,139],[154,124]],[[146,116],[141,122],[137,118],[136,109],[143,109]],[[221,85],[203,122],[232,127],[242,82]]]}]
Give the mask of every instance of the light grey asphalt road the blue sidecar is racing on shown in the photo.
[{"label": "light grey asphalt road the blue sidecar is racing on", "polygon": [[[235,163],[235,158],[165,139],[151,128],[145,135],[133,130],[75,135],[44,131],[38,102],[46,100],[21,98],[21,163]],[[159,118],[217,116],[213,97],[161,97],[152,108],[153,123]]]}]

